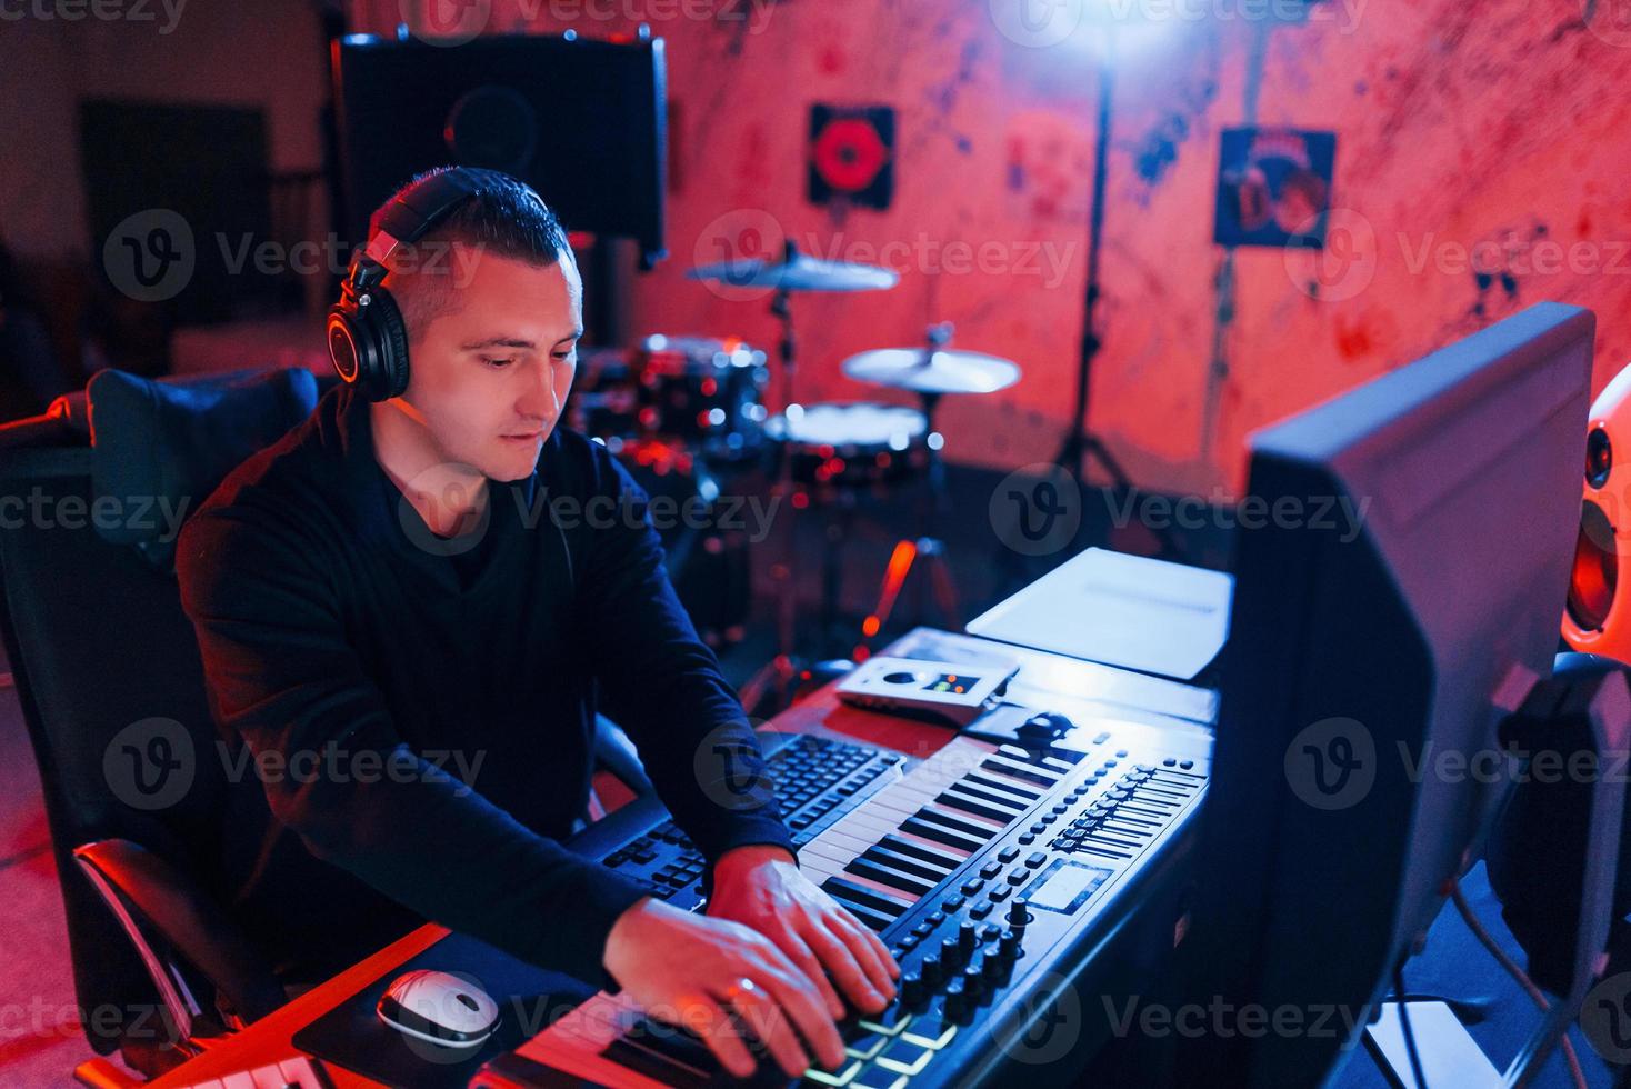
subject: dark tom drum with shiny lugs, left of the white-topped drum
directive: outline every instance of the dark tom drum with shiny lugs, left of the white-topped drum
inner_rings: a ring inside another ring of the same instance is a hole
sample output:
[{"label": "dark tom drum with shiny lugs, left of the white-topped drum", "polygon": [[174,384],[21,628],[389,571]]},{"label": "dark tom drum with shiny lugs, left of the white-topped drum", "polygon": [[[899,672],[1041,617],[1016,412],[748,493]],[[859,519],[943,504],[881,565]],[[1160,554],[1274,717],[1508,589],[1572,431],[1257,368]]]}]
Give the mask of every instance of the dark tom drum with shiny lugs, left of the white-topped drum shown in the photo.
[{"label": "dark tom drum with shiny lugs, left of the white-topped drum", "polygon": [[639,434],[682,442],[708,461],[739,461],[763,442],[765,354],[742,341],[648,336],[633,352]]}]

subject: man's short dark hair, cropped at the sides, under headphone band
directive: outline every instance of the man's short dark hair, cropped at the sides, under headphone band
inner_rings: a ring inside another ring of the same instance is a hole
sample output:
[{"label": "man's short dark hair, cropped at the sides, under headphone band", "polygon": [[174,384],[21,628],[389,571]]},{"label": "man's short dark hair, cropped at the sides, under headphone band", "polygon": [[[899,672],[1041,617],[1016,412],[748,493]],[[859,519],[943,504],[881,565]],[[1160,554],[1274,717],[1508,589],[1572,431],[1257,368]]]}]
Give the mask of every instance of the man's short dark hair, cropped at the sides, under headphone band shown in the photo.
[{"label": "man's short dark hair, cropped at the sides, under headphone band", "polygon": [[[369,220],[369,233],[378,228],[380,212],[403,192],[426,178],[453,170],[437,166],[398,189]],[[403,246],[388,261],[387,290],[403,311],[409,339],[416,337],[434,318],[455,306],[455,295],[463,287],[462,279],[470,267],[452,258],[452,243],[462,243],[484,256],[524,261],[548,267],[566,261],[577,266],[566,241],[566,228],[532,186],[509,174],[496,174],[494,184],[483,184],[475,196],[460,204],[440,223],[432,227],[413,246]]]}]

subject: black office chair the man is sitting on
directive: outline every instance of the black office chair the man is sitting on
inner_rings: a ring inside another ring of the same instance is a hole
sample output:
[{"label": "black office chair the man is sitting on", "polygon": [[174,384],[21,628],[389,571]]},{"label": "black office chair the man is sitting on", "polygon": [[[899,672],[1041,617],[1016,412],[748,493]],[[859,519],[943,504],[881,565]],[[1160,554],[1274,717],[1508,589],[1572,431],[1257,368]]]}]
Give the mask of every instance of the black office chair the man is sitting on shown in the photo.
[{"label": "black office chair the man is sitting on", "polygon": [[[173,572],[176,515],[305,417],[323,385],[303,370],[161,383],[109,370],[0,429],[0,636],[44,787],[80,1022],[98,1055],[119,1050],[145,1076],[285,999],[212,872],[228,792],[259,786],[199,758],[157,805],[163,784],[137,783],[126,748],[214,750]],[[651,789],[610,722],[597,756]],[[132,1084],[103,1058],[75,1078]]]}]

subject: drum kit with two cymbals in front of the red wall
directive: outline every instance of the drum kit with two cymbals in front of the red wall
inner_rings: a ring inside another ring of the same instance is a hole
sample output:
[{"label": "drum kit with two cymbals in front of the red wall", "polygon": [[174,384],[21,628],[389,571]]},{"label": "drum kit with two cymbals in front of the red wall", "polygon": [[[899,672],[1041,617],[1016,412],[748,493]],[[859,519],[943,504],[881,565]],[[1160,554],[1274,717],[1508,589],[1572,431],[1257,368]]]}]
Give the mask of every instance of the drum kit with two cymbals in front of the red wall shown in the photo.
[{"label": "drum kit with two cymbals in front of the red wall", "polygon": [[[778,261],[727,261],[695,267],[687,276],[723,287],[770,290],[770,313],[781,323],[776,362],[783,411],[770,414],[765,408],[770,365],[763,351],[739,339],[656,334],[634,349],[584,352],[568,401],[568,421],[618,453],[648,491],[662,486],[664,491],[695,494],[711,502],[721,496],[723,481],[747,471],[773,470],[773,499],[789,500],[781,514],[780,556],[771,566],[778,654],[744,686],[744,704],[752,709],[765,696],[785,701],[801,668],[794,649],[798,548],[791,512],[812,505],[833,512],[822,561],[825,634],[837,616],[838,548],[848,535],[858,499],[887,497],[926,479],[928,502],[920,533],[895,543],[877,605],[861,623],[861,637],[851,654],[866,655],[868,642],[889,619],[918,561],[931,569],[936,603],[946,621],[956,624],[951,572],[935,538],[935,517],[946,507],[939,458],[943,439],[935,429],[935,411],[948,393],[1006,390],[1019,380],[1018,364],[951,349],[953,326],[944,323],[931,326],[920,347],[876,349],[842,364],[842,372],[855,381],[915,393],[918,408],[877,401],[801,404],[794,396],[798,351],[793,297],[889,290],[899,276],[879,266],[812,258],[791,243]],[[654,473],[672,478],[652,481]],[[775,510],[781,512],[783,505]],[[685,603],[698,631],[719,646],[740,637],[747,616],[747,549],[742,541],[714,535],[703,541],[703,553],[727,556],[739,564],[708,579],[675,577],[682,598],[687,598],[687,585],[695,590]],[[705,584],[736,589],[732,600],[726,605],[716,598],[701,600],[698,595],[708,593],[701,589]]]}]

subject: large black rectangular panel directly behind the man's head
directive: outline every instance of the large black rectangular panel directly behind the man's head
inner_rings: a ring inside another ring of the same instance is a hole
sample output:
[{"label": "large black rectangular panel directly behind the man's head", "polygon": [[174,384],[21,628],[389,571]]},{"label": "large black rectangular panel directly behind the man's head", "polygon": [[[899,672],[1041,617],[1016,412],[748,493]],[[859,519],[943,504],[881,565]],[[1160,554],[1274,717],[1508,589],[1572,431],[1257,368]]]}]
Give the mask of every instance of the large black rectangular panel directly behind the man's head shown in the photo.
[{"label": "large black rectangular panel directly behind the man's head", "polygon": [[414,174],[460,165],[520,178],[569,230],[664,253],[662,39],[532,34],[460,46],[352,34],[334,42],[351,241]]}]

